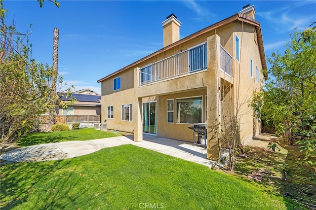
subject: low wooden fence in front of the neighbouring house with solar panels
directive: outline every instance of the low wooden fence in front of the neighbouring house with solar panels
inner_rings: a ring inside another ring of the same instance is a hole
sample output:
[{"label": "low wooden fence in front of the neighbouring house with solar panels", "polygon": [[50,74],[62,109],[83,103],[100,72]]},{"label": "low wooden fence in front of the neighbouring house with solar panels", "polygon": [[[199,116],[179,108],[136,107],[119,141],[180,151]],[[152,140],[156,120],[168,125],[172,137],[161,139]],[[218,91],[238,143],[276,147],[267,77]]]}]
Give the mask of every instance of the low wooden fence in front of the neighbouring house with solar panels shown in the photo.
[{"label": "low wooden fence in front of the neighbouring house with solar panels", "polygon": [[[48,129],[48,120],[45,116],[42,117],[40,130],[46,131]],[[94,127],[95,123],[101,122],[101,115],[56,115],[56,124],[67,124],[72,129],[72,124],[79,122],[80,128]]]}]

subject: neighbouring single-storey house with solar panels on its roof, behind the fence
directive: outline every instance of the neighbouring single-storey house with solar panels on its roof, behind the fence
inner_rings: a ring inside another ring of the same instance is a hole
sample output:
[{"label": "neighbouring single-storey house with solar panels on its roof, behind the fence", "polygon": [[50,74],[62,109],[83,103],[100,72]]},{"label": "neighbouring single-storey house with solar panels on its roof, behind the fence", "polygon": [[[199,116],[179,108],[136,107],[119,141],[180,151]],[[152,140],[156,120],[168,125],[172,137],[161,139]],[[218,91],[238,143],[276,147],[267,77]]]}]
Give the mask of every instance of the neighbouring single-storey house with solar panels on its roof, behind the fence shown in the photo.
[{"label": "neighbouring single-storey house with solar panels on its roof, behind the fence", "polygon": [[[101,115],[101,96],[95,94],[73,93],[77,101],[68,107],[58,106],[59,115]],[[70,101],[70,98],[61,96],[61,101]]]}]

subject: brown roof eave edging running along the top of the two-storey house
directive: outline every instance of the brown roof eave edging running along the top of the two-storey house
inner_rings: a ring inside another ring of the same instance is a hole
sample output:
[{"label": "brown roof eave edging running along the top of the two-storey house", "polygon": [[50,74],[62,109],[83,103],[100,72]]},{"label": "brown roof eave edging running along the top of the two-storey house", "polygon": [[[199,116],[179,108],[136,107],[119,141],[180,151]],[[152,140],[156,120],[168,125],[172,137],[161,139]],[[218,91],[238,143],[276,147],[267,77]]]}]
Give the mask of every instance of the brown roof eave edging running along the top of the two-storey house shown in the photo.
[{"label": "brown roof eave edging running along the top of the two-storey house", "polygon": [[[143,61],[146,61],[147,59],[150,59],[150,58],[152,58],[152,57],[154,57],[154,56],[156,56],[156,55],[158,55],[158,54],[160,54],[162,52],[165,52],[165,51],[167,51],[167,50],[169,50],[169,49],[171,49],[171,48],[173,48],[173,47],[175,47],[177,45],[180,45],[180,44],[182,44],[182,43],[184,43],[184,42],[186,42],[188,40],[191,40],[191,39],[193,39],[193,38],[195,38],[197,36],[206,34],[207,32],[210,32],[210,31],[212,31],[214,29],[217,29],[217,28],[219,28],[219,27],[221,27],[223,25],[232,23],[232,22],[234,22],[236,20],[249,23],[249,24],[254,25],[256,27],[257,38],[258,38],[258,43],[259,43],[258,46],[259,46],[259,51],[260,51],[262,68],[266,69],[267,68],[267,64],[266,64],[265,54],[264,54],[264,49],[263,49],[263,40],[262,40],[262,33],[261,33],[260,23],[258,21],[256,21],[256,20],[252,19],[251,17],[239,12],[239,13],[237,13],[235,15],[232,15],[232,16],[230,16],[228,18],[225,18],[225,19],[223,19],[223,20],[221,20],[221,21],[219,21],[217,23],[214,23],[214,24],[212,24],[212,25],[210,25],[210,26],[208,26],[208,27],[206,27],[206,28],[204,28],[204,29],[202,29],[200,31],[197,31],[196,33],[194,33],[192,35],[188,35],[188,36],[186,36],[186,37],[184,37],[184,38],[182,38],[182,39],[180,39],[180,40],[178,40],[178,41],[176,41],[176,42],[174,42],[174,43],[172,43],[172,44],[170,44],[170,45],[168,45],[168,46],[166,46],[166,47],[164,47],[164,48],[162,48],[162,49],[160,49],[160,50],[158,50],[158,51],[156,51],[156,52],[154,52],[154,53],[152,53],[152,54],[150,54],[150,55],[148,55],[148,56],[146,56],[146,57],[144,57],[144,58],[142,58],[142,59],[140,59],[140,60],[138,60],[138,61],[136,61],[136,62],[134,62],[134,63],[132,63],[130,65],[128,65],[128,66],[126,66],[126,67],[124,67],[124,68],[122,68],[122,69],[120,69],[120,70],[117,70],[117,71],[115,71],[115,72],[113,72],[113,73],[111,73],[111,74],[109,74],[109,75],[97,80],[97,82],[98,83],[102,82],[103,80],[105,80],[105,79],[107,79],[107,78],[109,78],[111,76],[114,76],[114,75],[116,75],[116,74],[118,74],[118,73],[120,73],[120,72],[122,72],[124,70],[127,70],[127,69],[129,69],[129,68],[131,68],[133,66],[136,66],[137,64],[139,64],[139,63],[141,63]],[[260,32],[260,33],[258,33],[258,32]],[[268,75],[265,75],[265,77],[268,78]]]}]

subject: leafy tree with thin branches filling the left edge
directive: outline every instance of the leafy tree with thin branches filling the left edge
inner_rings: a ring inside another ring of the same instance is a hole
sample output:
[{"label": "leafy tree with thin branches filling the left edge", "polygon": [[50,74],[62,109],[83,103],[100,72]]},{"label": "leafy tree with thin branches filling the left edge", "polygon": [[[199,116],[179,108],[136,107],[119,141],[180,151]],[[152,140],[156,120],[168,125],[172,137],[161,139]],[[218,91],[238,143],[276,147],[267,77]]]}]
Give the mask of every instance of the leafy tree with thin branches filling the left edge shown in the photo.
[{"label": "leafy tree with thin branches filling the left edge", "polygon": [[31,57],[29,34],[7,26],[5,13],[0,0],[0,144],[37,129],[40,115],[55,108],[59,98],[53,85],[56,71]]}]

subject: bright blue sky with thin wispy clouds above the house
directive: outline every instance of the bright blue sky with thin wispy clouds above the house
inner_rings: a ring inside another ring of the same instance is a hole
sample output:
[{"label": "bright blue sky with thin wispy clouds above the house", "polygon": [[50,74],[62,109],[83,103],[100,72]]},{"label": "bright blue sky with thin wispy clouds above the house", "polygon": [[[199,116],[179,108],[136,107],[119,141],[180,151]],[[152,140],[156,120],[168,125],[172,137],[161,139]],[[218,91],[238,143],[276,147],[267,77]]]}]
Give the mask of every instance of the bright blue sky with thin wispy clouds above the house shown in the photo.
[{"label": "bright blue sky with thin wispy clouds above the house", "polygon": [[284,51],[293,28],[304,30],[316,21],[316,0],[300,1],[108,1],[4,0],[6,23],[13,17],[19,32],[30,31],[32,56],[52,65],[53,29],[59,29],[59,73],[76,90],[101,93],[97,80],[163,47],[161,22],[174,13],[182,23],[180,38],[255,6],[261,23],[266,59]]}]

